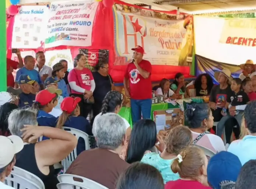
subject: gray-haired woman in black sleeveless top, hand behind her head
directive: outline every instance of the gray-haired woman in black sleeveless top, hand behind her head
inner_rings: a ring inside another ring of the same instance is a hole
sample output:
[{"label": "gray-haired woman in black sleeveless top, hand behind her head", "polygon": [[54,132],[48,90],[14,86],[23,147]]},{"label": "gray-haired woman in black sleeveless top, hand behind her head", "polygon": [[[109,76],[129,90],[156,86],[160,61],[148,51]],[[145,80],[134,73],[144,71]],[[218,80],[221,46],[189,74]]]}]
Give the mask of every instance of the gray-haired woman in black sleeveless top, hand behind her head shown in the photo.
[{"label": "gray-haired woman in black sleeveless top, hand behind her head", "polygon": [[[77,138],[67,131],[38,126],[36,111],[16,109],[8,118],[12,135],[23,138],[24,148],[17,153],[15,166],[38,176],[47,189],[56,189],[58,183],[53,165],[63,160],[77,146]],[[51,140],[37,142],[40,136]]]}]

